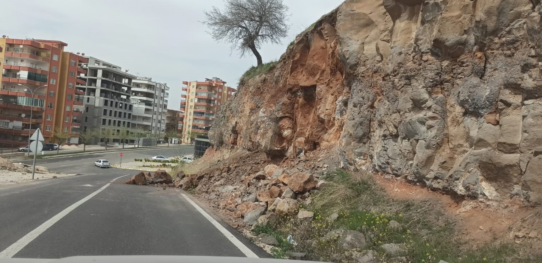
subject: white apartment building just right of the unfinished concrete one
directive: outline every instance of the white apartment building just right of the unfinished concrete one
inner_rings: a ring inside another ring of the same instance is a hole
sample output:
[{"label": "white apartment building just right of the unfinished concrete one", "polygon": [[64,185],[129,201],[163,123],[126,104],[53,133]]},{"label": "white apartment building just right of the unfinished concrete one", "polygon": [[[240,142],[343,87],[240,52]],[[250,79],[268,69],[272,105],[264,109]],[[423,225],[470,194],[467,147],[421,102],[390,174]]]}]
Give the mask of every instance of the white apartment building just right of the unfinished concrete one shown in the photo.
[{"label": "white apartment building just right of the unfinished concrete one", "polygon": [[166,83],[152,81],[150,77],[138,77],[132,81],[133,104],[131,128],[143,129],[158,142],[164,140],[169,87]]}]

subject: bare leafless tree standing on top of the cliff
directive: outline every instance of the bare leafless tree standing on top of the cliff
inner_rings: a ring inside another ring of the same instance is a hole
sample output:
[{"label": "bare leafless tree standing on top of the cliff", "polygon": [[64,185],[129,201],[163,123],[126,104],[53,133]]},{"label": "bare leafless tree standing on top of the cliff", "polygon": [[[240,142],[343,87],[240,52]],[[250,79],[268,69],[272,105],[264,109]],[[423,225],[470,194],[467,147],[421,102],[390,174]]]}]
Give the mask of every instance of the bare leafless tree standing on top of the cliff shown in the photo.
[{"label": "bare leafless tree standing on top of the cliff", "polygon": [[231,49],[238,49],[241,57],[250,50],[262,65],[258,49],[262,43],[280,44],[287,36],[288,6],[282,0],[227,0],[224,11],[213,6],[205,11],[209,34],[216,41],[230,42]]}]

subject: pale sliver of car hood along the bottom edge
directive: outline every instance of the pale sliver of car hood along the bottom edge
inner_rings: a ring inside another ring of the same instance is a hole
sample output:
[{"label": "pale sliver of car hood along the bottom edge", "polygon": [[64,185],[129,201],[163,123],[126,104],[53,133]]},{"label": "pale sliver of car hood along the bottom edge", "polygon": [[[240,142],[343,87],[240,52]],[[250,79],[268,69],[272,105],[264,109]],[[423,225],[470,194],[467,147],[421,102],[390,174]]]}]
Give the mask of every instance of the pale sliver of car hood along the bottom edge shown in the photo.
[{"label": "pale sliver of car hood along the bottom edge", "polygon": [[315,262],[299,260],[282,259],[263,259],[263,258],[234,258],[234,257],[200,257],[200,256],[79,256],[62,259],[1,259],[0,263],[280,263],[280,262]]}]

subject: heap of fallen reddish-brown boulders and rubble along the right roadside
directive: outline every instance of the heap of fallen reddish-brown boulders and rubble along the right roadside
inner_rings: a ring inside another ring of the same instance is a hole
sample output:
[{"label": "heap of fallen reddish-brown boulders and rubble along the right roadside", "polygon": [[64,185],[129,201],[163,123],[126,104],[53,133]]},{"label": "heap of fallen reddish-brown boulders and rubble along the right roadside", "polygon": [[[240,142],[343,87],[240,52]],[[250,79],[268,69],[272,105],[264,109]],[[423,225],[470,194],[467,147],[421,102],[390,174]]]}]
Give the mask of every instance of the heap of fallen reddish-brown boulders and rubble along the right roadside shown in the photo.
[{"label": "heap of fallen reddish-brown boulders and rubble along the right roadside", "polygon": [[266,223],[277,215],[312,218],[312,212],[300,207],[306,207],[311,194],[326,182],[318,180],[319,173],[312,173],[313,167],[305,162],[292,161],[281,168],[267,165],[269,161],[264,154],[253,153],[197,174],[180,175],[173,184],[184,190],[195,189],[211,206],[237,219],[234,225]]}]

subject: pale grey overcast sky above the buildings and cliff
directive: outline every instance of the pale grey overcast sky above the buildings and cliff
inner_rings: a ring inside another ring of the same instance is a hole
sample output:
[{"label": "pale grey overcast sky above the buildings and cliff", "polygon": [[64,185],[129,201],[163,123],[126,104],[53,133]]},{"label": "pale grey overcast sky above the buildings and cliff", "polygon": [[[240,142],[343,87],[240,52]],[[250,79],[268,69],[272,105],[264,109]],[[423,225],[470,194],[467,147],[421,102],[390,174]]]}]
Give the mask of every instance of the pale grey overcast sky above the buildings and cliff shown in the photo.
[{"label": "pale grey overcast sky above the buildings and cliff", "polygon": [[[343,0],[285,0],[289,36],[282,45],[263,45],[263,61],[278,59],[299,32]],[[220,77],[237,88],[253,56],[239,58],[228,43],[207,34],[203,11],[223,0],[27,0],[2,4],[0,35],[59,40],[82,52],[152,77],[170,87],[167,108],[179,109],[183,81]],[[23,8],[24,10],[22,10]],[[138,74],[139,73],[139,74]]]}]

